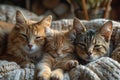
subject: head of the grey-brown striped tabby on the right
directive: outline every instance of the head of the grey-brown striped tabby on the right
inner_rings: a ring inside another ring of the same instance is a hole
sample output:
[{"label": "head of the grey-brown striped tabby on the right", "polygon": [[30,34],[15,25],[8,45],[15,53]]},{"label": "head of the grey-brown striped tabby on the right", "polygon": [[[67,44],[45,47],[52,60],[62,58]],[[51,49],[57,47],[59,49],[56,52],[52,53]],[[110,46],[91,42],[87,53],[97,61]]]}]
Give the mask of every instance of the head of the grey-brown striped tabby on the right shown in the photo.
[{"label": "head of the grey-brown striped tabby on the right", "polygon": [[113,30],[111,21],[106,22],[98,30],[86,30],[80,20],[75,18],[73,26],[77,29],[76,52],[81,59],[90,62],[108,55]]}]

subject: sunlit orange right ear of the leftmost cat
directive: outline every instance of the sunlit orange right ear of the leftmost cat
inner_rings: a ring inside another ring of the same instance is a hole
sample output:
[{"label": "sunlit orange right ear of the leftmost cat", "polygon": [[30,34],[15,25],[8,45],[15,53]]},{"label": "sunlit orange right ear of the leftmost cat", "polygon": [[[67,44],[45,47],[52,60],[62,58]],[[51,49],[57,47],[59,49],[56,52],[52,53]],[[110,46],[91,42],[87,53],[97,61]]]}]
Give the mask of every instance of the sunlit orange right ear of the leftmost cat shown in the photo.
[{"label": "sunlit orange right ear of the leftmost cat", "polygon": [[44,27],[50,27],[51,26],[51,22],[52,22],[52,16],[49,15],[45,18],[43,18],[40,22],[38,22],[37,24],[43,25]]}]

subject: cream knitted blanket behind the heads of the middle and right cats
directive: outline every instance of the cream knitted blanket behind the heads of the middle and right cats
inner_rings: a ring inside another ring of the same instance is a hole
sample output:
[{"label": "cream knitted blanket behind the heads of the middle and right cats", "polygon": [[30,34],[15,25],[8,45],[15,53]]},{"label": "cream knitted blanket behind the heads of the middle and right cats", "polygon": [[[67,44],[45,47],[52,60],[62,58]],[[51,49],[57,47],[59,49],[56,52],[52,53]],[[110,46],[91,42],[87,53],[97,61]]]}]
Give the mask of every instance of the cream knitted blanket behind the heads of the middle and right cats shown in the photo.
[{"label": "cream knitted blanket behind the heads of the middle and right cats", "polygon": [[[86,29],[92,29],[92,31],[99,29],[102,25],[104,25],[109,20],[107,19],[94,19],[94,20],[80,20],[82,24],[85,25]],[[110,57],[120,62],[120,22],[113,21],[113,32],[111,36],[111,44],[110,46]],[[59,21],[53,21],[52,26],[53,29],[56,30],[69,30],[73,27],[72,19],[62,19]]]}]

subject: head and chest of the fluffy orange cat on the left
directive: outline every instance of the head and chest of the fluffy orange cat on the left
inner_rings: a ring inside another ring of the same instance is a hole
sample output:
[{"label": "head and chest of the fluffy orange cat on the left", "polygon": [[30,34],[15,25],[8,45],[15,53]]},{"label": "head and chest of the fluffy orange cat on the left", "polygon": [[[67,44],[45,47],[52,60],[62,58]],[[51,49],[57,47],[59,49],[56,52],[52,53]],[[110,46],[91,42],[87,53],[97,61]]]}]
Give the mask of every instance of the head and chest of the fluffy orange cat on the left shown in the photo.
[{"label": "head and chest of the fluffy orange cat on the left", "polygon": [[52,17],[48,16],[40,22],[27,20],[22,12],[16,12],[16,25],[8,36],[6,54],[0,59],[15,61],[21,67],[33,68],[41,57],[41,49],[45,41],[45,27],[50,27]]}]

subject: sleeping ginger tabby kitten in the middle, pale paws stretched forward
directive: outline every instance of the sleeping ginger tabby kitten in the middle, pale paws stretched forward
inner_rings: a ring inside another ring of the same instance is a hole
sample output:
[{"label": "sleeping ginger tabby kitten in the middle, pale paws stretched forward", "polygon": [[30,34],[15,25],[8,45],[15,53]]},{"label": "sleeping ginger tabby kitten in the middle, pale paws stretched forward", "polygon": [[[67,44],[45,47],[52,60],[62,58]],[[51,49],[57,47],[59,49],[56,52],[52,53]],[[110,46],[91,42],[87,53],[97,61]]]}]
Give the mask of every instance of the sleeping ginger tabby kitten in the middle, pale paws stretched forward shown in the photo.
[{"label": "sleeping ginger tabby kitten in the middle, pale paws stretched forward", "polygon": [[37,80],[63,80],[64,71],[78,65],[74,56],[74,30],[55,31],[46,28],[43,59],[37,65]]}]

